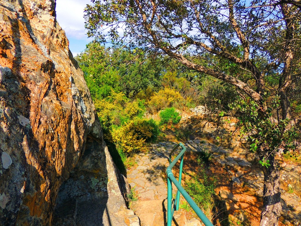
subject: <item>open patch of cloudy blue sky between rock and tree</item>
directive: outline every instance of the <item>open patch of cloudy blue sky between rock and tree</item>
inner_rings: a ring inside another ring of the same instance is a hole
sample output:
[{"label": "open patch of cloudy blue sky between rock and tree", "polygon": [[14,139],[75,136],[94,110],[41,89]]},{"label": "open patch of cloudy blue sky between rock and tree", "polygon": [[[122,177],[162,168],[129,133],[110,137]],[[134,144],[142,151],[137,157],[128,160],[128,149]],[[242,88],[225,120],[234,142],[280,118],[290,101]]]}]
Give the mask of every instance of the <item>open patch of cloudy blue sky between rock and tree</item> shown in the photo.
[{"label": "open patch of cloudy blue sky between rock and tree", "polygon": [[92,39],[86,35],[84,25],[84,8],[87,4],[91,4],[91,0],[57,0],[56,14],[57,21],[65,30],[69,40],[69,48],[75,56],[82,52],[86,44]]}]

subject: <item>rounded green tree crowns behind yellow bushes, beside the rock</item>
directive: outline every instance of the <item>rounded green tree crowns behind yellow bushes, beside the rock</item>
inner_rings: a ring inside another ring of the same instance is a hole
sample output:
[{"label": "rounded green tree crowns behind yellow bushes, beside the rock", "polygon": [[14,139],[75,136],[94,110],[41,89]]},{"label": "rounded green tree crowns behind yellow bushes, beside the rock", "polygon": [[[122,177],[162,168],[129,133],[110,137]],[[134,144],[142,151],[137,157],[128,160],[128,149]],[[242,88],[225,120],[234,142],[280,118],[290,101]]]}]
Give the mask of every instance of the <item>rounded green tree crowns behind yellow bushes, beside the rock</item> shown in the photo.
[{"label": "rounded green tree crowns behind yellow bushes, beside the rock", "polygon": [[76,60],[93,99],[106,98],[111,90],[134,99],[147,87],[160,85],[160,67],[141,50],[106,49],[99,42],[90,42]]}]

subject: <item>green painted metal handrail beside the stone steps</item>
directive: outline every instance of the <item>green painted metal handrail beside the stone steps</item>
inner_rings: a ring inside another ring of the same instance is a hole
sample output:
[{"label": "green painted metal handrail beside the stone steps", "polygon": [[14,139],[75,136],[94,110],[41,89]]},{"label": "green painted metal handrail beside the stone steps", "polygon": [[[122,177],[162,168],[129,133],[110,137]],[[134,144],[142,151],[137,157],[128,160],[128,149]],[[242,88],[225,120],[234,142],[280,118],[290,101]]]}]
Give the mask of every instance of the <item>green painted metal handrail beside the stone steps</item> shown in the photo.
[{"label": "green painted metal handrail beside the stone steps", "polygon": [[[176,151],[176,149],[179,146],[182,148],[182,151],[177,155],[177,157],[175,157],[175,159],[173,161],[171,161],[171,155]],[[166,175],[167,175],[167,226],[171,226],[174,211],[179,210],[180,193],[186,199],[188,204],[191,206],[191,208],[194,210],[194,212],[198,215],[198,217],[201,219],[201,221],[203,221],[203,223],[206,226],[213,226],[213,224],[209,221],[209,219],[206,217],[206,215],[200,210],[200,208],[197,206],[197,204],[191,199],[191,197],[188,195],[188,193],[181,186],[183,158],[184,158],[185,152],[186,152],[186,147],[182,143],[179,143],[169,153],[169,166],[166,169]],[[178,181],[172,173],[172,167],[175,166],[175,164],[178,162],[178,160],[180,158],[181,158],[181,162],[180,162],[179,181]],[[175,187],[178,188],[173,207],[172,207],[172,183],[174,183]]]}]

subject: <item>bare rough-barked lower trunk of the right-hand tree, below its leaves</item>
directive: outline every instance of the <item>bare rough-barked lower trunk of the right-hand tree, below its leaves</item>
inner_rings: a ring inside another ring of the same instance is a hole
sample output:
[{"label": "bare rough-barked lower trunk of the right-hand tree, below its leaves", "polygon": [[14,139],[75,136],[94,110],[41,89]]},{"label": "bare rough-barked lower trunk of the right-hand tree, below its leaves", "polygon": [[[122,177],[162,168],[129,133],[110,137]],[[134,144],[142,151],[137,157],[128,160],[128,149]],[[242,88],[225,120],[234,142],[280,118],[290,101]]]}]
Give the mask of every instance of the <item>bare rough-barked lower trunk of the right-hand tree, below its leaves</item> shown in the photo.
[{"label": "bare rough-barked lower trunk of the right-hand tree, below its leaves", "polygon": [[280,202],[279,170],[276,167],[274,155],[271,154],[268,156],[268,152],[265,153],[265,159],[270,160],[269,164],[271,165],[268,166],[268,168],[263,167],[263,208],[260,226],[278,226],[282,209]]}]

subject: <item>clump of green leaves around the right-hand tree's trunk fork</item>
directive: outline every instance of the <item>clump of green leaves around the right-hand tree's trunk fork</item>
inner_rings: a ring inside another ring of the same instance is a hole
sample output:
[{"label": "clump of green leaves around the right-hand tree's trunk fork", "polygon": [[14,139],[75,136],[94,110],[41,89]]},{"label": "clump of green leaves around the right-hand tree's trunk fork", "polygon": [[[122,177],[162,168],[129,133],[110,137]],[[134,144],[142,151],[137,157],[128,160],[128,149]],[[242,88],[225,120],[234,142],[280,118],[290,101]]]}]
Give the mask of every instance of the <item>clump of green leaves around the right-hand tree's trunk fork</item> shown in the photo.
[{"label": "clump of green leaves around the right-hand tree's trunk fork", "polygon": [[265,99],[268,99],[270,103],[266,106],[265,113],[260,111],[256,102],[243,99],[234,102],[231,108],[237,111],[241,133],[250,142],[250,150],[259,151],[259,156],[262,156],[259,163],[268,167],[270,166],[268,157],[272,152],[281,147],[285,150],[295,148],[293,141],[296,139],[297,133],[295,127],[287,129],[288,119],[280,119],[278,123],[272,120],[273,112],[280,106],[279,97],[265,95]]}]

